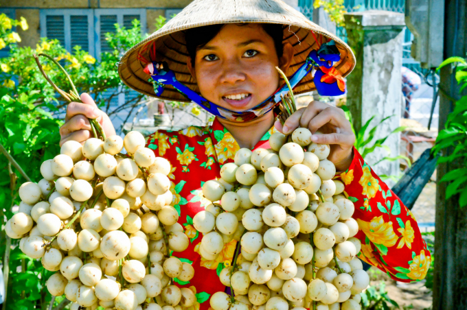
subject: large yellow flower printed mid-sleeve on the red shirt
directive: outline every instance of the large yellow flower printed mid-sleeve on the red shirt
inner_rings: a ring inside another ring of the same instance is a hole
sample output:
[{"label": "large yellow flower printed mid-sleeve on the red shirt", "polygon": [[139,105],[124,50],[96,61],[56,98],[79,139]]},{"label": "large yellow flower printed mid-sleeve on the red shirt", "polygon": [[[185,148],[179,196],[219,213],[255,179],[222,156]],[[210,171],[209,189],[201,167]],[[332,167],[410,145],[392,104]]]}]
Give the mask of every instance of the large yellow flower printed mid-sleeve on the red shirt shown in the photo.
[{"label": "large yellow flower printed mid-sleeve on the red shirt", "polygon": [[373,217],[371,222],[365,222],[357,219],[358,228],[363,230],[368,239],[376,244],[382,244],[389,248],[396,244],[398,237],[392,228],[392,222],[385,222],[383,215]]}]

